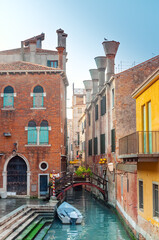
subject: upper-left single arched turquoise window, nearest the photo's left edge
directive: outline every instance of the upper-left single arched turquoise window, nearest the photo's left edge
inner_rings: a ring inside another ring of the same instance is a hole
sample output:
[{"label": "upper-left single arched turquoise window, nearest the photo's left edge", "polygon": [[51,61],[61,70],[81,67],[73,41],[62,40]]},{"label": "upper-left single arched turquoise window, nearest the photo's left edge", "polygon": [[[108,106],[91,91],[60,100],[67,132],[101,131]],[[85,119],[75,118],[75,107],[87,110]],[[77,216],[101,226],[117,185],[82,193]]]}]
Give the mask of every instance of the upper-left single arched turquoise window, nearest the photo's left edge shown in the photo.
[{"label": "upper-left single arched turquoise window, nearest the photo's left edge", "polygon": [[3,107],[11,108],[14,106],[14,89],[11,86],[7,86],[4,89]]}]

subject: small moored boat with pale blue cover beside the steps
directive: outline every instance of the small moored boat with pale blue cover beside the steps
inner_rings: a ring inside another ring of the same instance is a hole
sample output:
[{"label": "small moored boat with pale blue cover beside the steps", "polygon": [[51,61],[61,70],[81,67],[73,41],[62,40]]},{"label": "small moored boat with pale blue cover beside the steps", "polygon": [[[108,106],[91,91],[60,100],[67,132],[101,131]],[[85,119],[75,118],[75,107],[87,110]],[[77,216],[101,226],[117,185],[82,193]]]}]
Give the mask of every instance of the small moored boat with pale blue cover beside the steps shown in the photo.
[{"label": "small moored boat with pale blue cover beside the steps", "polygon": [[83,218],[80,211],[67,202],[57,208],[57,215],[63,224],[80,224]]}]

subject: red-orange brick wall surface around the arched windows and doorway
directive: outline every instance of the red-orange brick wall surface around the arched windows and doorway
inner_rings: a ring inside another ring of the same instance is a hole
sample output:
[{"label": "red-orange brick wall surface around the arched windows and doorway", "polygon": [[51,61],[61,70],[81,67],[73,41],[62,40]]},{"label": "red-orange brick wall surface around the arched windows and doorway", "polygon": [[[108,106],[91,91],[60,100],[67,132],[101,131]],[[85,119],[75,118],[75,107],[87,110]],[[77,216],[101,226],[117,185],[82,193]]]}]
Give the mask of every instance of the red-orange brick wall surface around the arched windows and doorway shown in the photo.
[{"label": "red-orange brick wall surface around the arched windows and doorway", "polygon": [[[60,74],[55,73],[28,73],[28,74],[3,74],[0,75],[0,92],[3,93],[6,86],[12,86],[14,97],[14,110],[2,110],[3,97],[0,98],[0,153],[4,155],[0,159],[0,187],[3,185],[2,172],[4,163],[12,155],[14,143],[17,143],[17,153],[24,156],[30,166],[30,185],[38,183],[38,174],[50,173],[53,169],[61,171],[61,154],[65,154],[64,130],[65,130],[65,86]],[[33,97],[30,93],[36,85],[43,87],[44,108],[32,109]],[[28,122],[34,120],[40,126],[42,120],[47,120],[51,127],[49,131],[49,146],[26,146]],[[61,130],[62,129],[62,130]],[[10,132],[11,137],[5,137],[4,132]],[[46,161],[48,169],[41,171],[39,163]],[[37,195],[37,191],[30,195]]]}]

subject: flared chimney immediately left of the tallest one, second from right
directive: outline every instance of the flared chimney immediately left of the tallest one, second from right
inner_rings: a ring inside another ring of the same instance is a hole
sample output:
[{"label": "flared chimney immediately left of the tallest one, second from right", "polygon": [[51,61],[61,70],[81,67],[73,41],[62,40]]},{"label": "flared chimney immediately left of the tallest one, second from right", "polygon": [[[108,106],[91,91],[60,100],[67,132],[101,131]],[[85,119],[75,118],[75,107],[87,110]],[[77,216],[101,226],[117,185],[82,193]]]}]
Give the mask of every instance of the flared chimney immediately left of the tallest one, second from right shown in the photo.
[{"label": "flared chimney immediately left of the tallest one, second from right", "polygon": [[103,88],[105,83],[105,69],[106,69],[106,57],[95,57],[94,58],[97,68],[98,68],[98,78],[99,78],[99,91]]}]

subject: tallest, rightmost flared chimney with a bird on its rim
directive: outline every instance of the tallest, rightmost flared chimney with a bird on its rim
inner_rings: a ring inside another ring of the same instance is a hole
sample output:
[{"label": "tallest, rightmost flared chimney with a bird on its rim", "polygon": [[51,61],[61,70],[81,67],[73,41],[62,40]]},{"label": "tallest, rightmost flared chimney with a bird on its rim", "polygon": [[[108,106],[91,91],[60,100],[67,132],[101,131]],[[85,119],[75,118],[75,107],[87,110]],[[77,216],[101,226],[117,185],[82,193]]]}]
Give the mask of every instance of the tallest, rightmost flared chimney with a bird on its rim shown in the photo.
[{"label": "tallest, rightmost flared chimney with a bird on its rim", "polygon": [[106,71],[107,82],[114,74],[114,60],[120,43],[115,41],[104,41],[102,44],[107,58],[107,71]]}]

